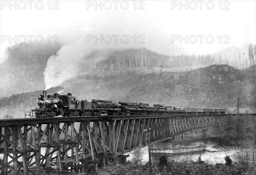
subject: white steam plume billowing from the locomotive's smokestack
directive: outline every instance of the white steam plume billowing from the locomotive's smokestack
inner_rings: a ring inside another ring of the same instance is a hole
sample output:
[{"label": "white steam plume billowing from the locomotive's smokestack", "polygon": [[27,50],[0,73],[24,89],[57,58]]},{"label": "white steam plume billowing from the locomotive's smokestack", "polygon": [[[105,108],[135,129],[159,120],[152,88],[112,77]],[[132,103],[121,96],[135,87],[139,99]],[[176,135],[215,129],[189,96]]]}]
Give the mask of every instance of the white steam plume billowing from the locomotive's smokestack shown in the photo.
[{"label": "white steam plume billowing from the locomotive's smokestack", "polygon": [[[130,47],[125,45],[121,48]],[[119,45],[95,44],[86,42],[86,35],[76,34],[67,40],[56,55],[50,56],[44,71],[45,90],[61,85],[69,79],[73,79],[79,73],[81,63],[96,64],[107,58],[107,50],[120,48]],[[85,59],[92,51],[104,50],[105,53],[94,53],[93,58]]]}]

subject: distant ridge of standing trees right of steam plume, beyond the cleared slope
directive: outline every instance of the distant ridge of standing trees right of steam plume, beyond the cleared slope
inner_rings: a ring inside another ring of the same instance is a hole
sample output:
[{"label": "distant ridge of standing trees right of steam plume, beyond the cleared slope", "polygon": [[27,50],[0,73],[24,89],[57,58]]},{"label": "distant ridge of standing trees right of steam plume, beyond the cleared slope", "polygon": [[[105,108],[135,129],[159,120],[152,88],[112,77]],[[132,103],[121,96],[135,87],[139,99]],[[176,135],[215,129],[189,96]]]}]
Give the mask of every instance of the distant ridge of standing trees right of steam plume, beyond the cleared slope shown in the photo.
[{"label": "distant ridge of standing trees right of steam plume, beyond the cleared slope", "polygon": [[[100,56],[105,60],[94,63]],[[92,61],[89,61],[92,60]],[[163,55],[150,51],[146,48],[122,49],[122,50],[100,50],[93,51],[86,56],[82,68],[177,68],[186,66],[203,66],[215,64],[211,55]]]}]

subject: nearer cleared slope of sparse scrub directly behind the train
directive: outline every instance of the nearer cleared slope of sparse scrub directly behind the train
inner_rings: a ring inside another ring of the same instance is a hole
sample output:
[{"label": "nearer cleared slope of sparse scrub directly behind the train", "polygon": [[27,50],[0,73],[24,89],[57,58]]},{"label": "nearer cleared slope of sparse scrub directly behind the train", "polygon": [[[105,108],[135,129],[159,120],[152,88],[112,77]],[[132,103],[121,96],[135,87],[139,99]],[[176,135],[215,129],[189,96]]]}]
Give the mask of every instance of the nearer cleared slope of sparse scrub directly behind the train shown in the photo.
[{"label": "nearer cleared slope of sparse scrub directly behind the train", "polygon": [[[243,99],[242,111],[255,113],[255,68],[239,71],[229,65],[211,65],[195,71],[188,70],[187,73],[186,69],[180,73],[179,69],[152,72],[152,68],[148,68],[150,71],[145,68],[141,75],[132,73],[134,69],[126,69],[131,73],[129,76],[124,77],[117,72],[116,77],[108,78],[100,74],[84,74],[65,82],[62,87],[47,90],[47,93],[72,93],[78,99],[88,101],[107,99],[176,107],[227,108],[231,113],[236,97],[240,96]],[[41,90],[1,98],[1,117],[9,114],[23,118],[24,111],[36,107],[39,94],[42,94]]]}]

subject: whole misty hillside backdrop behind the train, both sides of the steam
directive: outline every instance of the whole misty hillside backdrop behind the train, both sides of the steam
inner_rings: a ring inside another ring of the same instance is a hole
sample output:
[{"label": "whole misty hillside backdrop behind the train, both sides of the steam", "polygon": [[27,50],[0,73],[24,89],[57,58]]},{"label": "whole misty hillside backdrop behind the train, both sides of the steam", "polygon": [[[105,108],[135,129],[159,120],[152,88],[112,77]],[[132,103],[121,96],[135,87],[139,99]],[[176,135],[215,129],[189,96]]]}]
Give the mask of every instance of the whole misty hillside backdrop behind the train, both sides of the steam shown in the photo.
[{"label": "whole misty hillside backdrop behind the train, both sides of the steam", "polygon": [[[24,110],[22,113],[12,111],[12,107],[9,110],[6,103],[14,106],[33,103],[35,107],[37,96],[45,89],[43,72],[47,61],[50,56],[57,56],[60,48],[61,45],[16,45],[9,48],[9,59],[1,64],[1,69],[7,70],[1,72],[1,117],[6,113],[24,116]],[[233,49],[239,53],[243,51]],[[64,79],[61,86],[50,88],[48,92],[63,90],[62,93],[70,92],[80,100],[227,108],[231,112],[236,96],[241,96],[244,111],[255,112],[256,67],[238,70],[230,65],[218,65],[218,61],[219,58],[210,54],[169,56],[146,48],[94,50],[84,56],[73,78]],[[225,61],[222,59],[222,62]],[[28,69],[33,69],[31,75]],[[26,76],[20,70],[25,70]],[[56,72],[51,70],[49,73],[53,76]],[[61,77],[61,72],[57,75]]]}]

